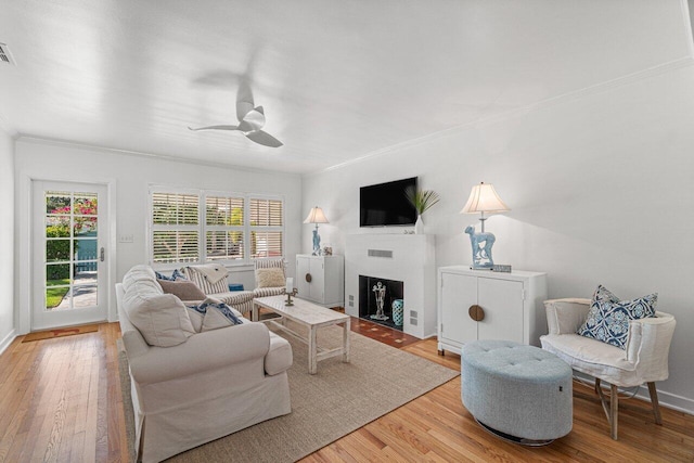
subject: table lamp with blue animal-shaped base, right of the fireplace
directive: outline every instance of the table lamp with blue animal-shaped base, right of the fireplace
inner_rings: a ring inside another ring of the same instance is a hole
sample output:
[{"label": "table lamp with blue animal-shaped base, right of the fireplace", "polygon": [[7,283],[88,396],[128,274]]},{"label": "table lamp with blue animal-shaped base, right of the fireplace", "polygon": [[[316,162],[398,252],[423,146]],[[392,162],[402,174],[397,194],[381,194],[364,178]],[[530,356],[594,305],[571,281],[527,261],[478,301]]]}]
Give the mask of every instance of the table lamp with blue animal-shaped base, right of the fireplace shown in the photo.
[{"label": "table lamp with blue animal-shaped base, right of the fireplace", "polygon": [[480,233],[475,232],[475,227],[473,226],[468,226],[465,229],[465,233],[470,235],[470,243],[473,248],[473,269],[490,270],[494,267],[494,261],[491,257],[491,246],[494,244],[494,241],[497,241],[497,237],[492,233],[485,232],[485,220],[487,220],[485,213],[496,214],[507,210],[511,209],[501,201],[493,185],[481,182],[473,187],[467,203],[465,203],[465,206],[460,211],[461,214],[481,214],[479,218],[479,221],[481,221]]}]

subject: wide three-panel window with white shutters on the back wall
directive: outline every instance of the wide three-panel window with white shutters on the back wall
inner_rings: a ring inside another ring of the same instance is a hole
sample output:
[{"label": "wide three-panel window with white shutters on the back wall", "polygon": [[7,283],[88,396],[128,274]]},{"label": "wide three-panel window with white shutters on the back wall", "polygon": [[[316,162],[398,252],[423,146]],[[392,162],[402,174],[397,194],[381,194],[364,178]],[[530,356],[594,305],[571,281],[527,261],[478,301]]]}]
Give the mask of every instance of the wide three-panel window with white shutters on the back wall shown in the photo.
[{"label": "wide three-panel window with white shutters on the back wall", "polygon": [[163,190],[151,190],[152,263],[248,263],[283,255],[282,200]]}]

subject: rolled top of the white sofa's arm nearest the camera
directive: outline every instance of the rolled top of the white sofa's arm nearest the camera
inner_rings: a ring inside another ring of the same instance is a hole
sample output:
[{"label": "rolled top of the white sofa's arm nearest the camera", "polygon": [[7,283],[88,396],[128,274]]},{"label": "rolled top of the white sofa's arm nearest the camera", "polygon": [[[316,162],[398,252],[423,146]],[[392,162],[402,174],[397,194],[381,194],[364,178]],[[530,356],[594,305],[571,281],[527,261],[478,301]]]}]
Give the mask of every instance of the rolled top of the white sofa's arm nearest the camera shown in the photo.
[{"label": "rolled top of the white sofa's arm nearest the camera", "polygon": [[140,386],[215,370],[249,359],[264,359],[270,334],[262,323],[197,333],[172,347],[150,347],[140,356],[128,356],[130,372]]}]

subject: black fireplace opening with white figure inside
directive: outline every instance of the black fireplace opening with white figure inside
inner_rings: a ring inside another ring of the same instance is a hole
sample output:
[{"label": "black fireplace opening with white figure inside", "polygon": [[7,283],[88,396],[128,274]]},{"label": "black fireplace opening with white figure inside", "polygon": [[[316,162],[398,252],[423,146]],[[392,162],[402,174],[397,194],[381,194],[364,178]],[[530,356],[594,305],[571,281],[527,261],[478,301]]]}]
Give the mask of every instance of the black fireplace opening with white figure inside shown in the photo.
[{"label": "black fireplace opening with white figure inside", "polygon": [[359,318],[402,331],[404,284],[359,275]]}]

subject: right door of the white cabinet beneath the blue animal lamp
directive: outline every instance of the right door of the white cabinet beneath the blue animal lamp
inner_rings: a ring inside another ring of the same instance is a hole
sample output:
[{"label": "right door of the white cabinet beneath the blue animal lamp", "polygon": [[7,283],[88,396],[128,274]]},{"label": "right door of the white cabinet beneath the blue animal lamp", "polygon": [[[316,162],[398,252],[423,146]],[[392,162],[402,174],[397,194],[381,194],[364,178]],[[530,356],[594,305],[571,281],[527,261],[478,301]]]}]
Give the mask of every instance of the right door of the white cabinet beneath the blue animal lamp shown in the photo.
[{"label": "right door of the white cabinet beneath the blue animal lamp", "polygon": [[477,326],[479,339],[505,339],[523,343],[523,282],[479,278],[479,306],[485,319]]}]

